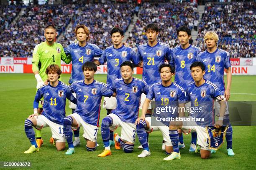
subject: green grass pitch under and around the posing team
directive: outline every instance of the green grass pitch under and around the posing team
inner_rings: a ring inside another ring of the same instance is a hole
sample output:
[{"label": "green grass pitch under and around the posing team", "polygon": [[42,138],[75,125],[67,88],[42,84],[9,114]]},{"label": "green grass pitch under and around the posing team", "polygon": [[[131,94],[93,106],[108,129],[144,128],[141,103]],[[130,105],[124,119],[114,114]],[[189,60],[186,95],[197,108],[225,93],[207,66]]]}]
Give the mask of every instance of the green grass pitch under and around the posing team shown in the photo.
[{"label": "green grass pitch under and around the posing team", "polygon": [[[63,75],[67,82],[70,75]],[[141,75],[136,75],[141,78]],[[95,79],[106,82],[106,75],[95,75]],[[256,100],[256,76],[233,76],[231,93],[251,93],[254,95],[231,94],[230,100]],[[24,120],[33,113],[33,99],[36,93],[36,80],[32,74],[0,74],[0,161],[31,162],[33,169],[255,169],[256,127],[233,127],[233,150],[236,155],[228,157],[226,143],[212,155],[209,160],[202,160],[200,154],[189,153],[190,135],[184,135],[186,148],[181,150],[181,160],[167,161],[161,150],[162,137],[160,132],[150,134],[149,143],[151,156],[137,158],[138,139],[133,153],[125,154],[122,150],[112,148],[111,156],[98,158],[103,150],[100,132],[99,147],[95,152],[87,152],[84,139],[76,153],[66,156],[64,151],[56,151],[49,144],[51,132],[49,128],[42,130],[44,145],[39,153],[23,154],[30,146],[24,132]],[[67,114],[71,111],[67,107]],[[101,110],[101,119],[106,115]],[[120,133],[120,129],[117,130]],[[81,130],[82,134],[82,130]]]}]

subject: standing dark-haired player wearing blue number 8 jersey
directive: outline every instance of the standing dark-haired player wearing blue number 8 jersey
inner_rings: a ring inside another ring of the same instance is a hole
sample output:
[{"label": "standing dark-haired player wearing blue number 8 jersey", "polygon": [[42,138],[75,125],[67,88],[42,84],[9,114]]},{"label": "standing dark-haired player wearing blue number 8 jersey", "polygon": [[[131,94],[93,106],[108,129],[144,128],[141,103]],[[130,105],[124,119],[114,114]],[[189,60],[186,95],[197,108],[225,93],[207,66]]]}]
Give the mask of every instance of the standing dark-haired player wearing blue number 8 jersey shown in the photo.
[{"label": "standing dark-haired player wearing blue number 8 jersey", "polygon": [[[170,65],[174,66],[176,71],[174,82],[180,85],[183,89],[186,89],[187,85],[193,82],[190,74],[190,65],[196,61],[197,55],[202,51],[199,47],[189,44],[189,40],[191,39],[191,30],[188,27],[179,27],[177,29],[177,36],[180,45],[172,49],[175,56],[172,57]],[[193,132],[191,135],[192,140],[189,152],[195,152],[197,133]],[[179,137],[179,148],[185,148],[182,134]]]}]

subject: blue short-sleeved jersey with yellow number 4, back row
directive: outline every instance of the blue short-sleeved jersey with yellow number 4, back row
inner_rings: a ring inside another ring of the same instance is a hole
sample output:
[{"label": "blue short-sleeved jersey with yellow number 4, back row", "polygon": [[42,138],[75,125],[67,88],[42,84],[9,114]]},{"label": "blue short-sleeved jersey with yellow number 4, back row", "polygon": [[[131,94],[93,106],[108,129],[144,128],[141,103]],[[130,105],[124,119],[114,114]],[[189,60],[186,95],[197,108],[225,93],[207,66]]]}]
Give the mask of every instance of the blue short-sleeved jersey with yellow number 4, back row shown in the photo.
[{"label": "blue short-sleeved jersey with yellow number 4, back row", "polygon": [[67,56],[72,58],[72,72],[69,79],[69,83],[72,84],[78,80],[84,80],[84,74],[82,70],[82,65],[84,62],[93,62],[94,57],[100,57],[102,55],[102,50],[95,44],[88,43],[81,47],[77,43],[72,43],[64,51]]}]

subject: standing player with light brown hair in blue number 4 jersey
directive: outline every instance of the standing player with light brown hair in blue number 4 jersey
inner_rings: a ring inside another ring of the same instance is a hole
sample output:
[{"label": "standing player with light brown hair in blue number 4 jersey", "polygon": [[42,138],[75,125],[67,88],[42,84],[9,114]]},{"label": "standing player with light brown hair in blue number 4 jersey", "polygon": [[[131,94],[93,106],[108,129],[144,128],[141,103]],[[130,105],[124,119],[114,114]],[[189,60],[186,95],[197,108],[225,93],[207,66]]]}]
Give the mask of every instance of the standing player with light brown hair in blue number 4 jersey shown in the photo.
[{"label": "standing player with light brown hair in blue number 4 jersey", "polygon": [[[69,84],[78,80],[84,80],[82,70],[83,63],[87,61],[92,62],[94,57],[100,57],[100,55],[102,55],[102,50],[97,45],[87,42],[90,39],[90,31],[85,25],[77,25],[74,32],[77,36],[78,42],[72,43],[68,47],[64,48],[66,55],[72,58],[72,72]],[[75,96],[75,93],[73,95]],[[69,102],[69,108],[75,110],[76,105]],[[79,128],[74,131],[74,137],[74,146],[80,145]]]}]

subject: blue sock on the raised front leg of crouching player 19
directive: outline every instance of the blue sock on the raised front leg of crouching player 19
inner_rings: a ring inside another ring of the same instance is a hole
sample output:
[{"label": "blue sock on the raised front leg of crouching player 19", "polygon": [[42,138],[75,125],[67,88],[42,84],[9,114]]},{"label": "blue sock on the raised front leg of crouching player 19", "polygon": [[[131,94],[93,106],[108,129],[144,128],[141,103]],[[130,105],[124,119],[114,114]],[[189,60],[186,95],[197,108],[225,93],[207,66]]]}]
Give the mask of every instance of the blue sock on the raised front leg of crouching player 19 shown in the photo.
[{"label": "blue sock on the raised front leg of crouching player 19", "polygon": [[138,140],[140,141],[141,146],[143,147],[144,150],[149,151],[147,133],[145,130],[146,126],[147,126],[146,121],[140,120],[139,124],[136,125],[136,131],[137,131]]}]

